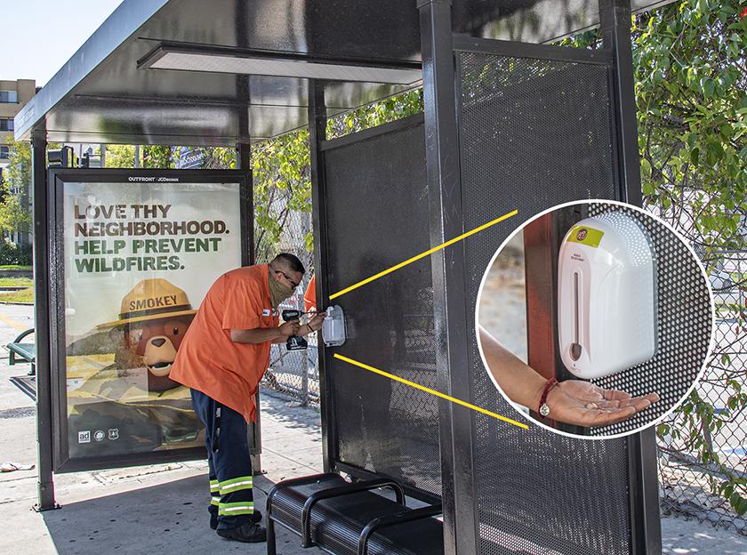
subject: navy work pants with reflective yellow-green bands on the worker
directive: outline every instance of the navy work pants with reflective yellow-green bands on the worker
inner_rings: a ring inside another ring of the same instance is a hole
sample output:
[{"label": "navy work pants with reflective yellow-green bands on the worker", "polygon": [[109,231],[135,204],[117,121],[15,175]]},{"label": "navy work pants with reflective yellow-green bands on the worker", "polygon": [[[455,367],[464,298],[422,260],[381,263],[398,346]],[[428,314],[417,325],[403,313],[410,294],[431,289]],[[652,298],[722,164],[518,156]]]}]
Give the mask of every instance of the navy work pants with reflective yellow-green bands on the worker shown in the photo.
[{"label": "navy work pants with reflective yellow-green bands on the worker", "polygon": [[239,527],[254,513],[252,459],[246,421],[202,391],[192,391],[192,406],[205,424],[205,446],[210,467],[210,516],[218,528]]}]

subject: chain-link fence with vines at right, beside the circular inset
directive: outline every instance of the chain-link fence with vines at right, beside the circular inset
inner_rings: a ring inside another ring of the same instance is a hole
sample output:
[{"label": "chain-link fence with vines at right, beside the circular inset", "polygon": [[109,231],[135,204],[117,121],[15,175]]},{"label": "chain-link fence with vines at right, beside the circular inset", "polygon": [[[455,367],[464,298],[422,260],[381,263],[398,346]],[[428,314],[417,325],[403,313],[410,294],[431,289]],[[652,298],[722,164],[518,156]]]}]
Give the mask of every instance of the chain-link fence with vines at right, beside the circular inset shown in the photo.
[{"label": "chain-link fence with vines at right, beside the circular inset", "polygon": [[[695,388],[696,401],[659,426],[662,508],[747,535],[744,515],[729,501],[744,496],[747,484],[747,250],[710,249],[689,206],[686,199],[666,211],[649,207],[693,245],[709,269],[716,307],[711,357]],[[740,234],[747,237],[745,214]]]}]

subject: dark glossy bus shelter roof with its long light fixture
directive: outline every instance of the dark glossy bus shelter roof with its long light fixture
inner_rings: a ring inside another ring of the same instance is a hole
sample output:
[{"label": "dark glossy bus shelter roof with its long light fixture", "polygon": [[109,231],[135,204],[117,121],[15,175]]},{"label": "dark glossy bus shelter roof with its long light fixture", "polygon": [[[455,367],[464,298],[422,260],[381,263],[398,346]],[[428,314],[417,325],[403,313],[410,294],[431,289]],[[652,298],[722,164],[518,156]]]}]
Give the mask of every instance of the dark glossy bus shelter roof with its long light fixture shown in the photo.
[{"label": "dark glossy bus shelter roof with its long light fixture", "polygon": [[[597,0],[454,0],[453,13],[457,33],[530,43],[599,19]],[[20,111],[16,138],[262,141],[307,125],[301,74],[340,113],[419,86],[420,52],[415,0],[124,0]]]}]

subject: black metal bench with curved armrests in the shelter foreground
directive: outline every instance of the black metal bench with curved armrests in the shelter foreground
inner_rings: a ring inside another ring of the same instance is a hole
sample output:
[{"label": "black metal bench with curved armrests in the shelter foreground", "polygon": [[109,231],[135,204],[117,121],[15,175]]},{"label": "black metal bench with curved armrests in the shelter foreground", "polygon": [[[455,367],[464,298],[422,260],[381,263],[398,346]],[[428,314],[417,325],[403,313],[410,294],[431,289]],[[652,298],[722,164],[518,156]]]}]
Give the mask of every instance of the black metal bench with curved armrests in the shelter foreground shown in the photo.
[{"label": "black metal bench with curved armrests in the shelter foreground", "polygon": [[[374,493],[389,488],[395,499]],[[267,553],[276,555],[275,526],[301,536],[305,548],[334,555],[438,555],[444,552],[441,505],[410,509],[391,479],[349,483],[338,474],[279,482],[267,496]]]}]

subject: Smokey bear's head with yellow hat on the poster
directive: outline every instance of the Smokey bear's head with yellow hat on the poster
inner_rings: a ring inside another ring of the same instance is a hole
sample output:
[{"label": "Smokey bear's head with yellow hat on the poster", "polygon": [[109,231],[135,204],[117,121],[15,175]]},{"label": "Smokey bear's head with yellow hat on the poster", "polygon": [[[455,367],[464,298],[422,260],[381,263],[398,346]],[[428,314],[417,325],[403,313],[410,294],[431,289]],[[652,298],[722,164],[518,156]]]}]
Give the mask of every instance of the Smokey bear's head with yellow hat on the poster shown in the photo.
[{"label": "Smokey bear's head with yellow hat on the poster", "polygon": [[165,391],[180,385],[169,373],[196,312],[187,294],[168,280],[143,279],[124,295],[119,318],[98,327],[122,326],[124,349],[116,354],[116,366],[145,366],[148,390]]}]

